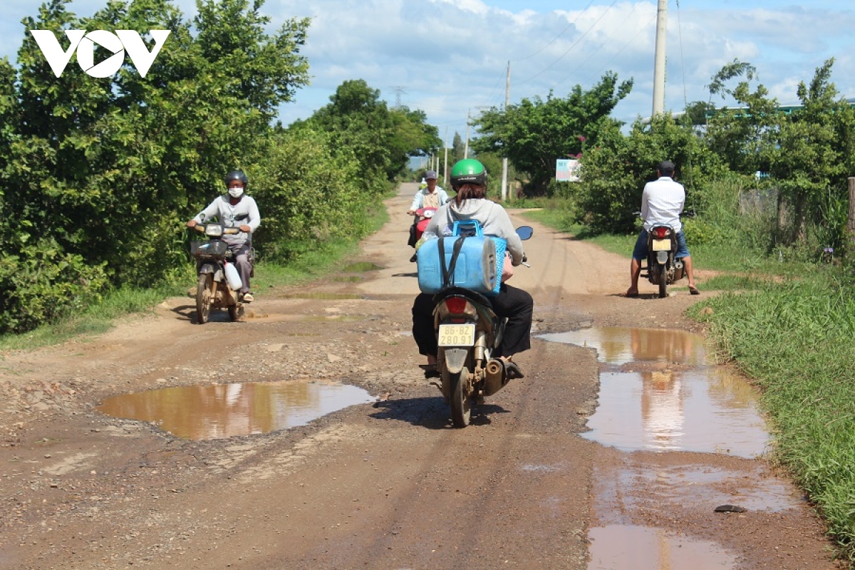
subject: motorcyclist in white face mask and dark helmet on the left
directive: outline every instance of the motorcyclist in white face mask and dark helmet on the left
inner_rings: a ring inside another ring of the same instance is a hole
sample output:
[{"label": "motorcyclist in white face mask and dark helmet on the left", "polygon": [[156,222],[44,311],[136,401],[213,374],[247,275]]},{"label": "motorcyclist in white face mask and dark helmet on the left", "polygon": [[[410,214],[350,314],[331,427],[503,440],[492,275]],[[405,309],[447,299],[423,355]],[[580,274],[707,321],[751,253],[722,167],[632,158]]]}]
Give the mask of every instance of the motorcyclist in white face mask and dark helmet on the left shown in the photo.
[{"label": "motorcyclist in white face mask and dark helmet on the left", "polygon": [[254,300],[250,290],[252,232],[258,229],[262,219],[261,215],[258,214],[256,201],[246,195],[249,179],[242,170],[233,170],[227,173],[223,181],[226,183],[227,193],[216,198],[195,218],[188,221],[187,227],[195,227],[197,224],[205,223],[216,217],[223,226],[237,227],[240,230],[237,234],[224,235],[222,240],[228,245],[229,251],[234,254],[234,264],[238,267],[240,280],[243,284],[240,288],[241,300],[244,303],[252,303]]}]

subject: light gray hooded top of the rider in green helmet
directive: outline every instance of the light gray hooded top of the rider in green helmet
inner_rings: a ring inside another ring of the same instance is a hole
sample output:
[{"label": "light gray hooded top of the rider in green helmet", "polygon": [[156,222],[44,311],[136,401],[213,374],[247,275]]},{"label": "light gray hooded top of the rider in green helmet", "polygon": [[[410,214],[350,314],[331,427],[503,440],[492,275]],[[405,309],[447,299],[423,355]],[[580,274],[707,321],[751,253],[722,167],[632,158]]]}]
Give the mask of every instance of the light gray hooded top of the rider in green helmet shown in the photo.
[{"label": "light gray hooded top of the rider in green helmet", "polygon": [[510,216],[499,204],[486,198],[463,200],[460,206],[451,198],[451,202],[440,206],[436,214],[433,214],[425,232],[433,232],[437,236],[451,233],[454,222],[464,220],[478,220],[484,235],[508,240],[508,251],[513,264],[519,265],[522,262],[522,239],[516,235]]}]

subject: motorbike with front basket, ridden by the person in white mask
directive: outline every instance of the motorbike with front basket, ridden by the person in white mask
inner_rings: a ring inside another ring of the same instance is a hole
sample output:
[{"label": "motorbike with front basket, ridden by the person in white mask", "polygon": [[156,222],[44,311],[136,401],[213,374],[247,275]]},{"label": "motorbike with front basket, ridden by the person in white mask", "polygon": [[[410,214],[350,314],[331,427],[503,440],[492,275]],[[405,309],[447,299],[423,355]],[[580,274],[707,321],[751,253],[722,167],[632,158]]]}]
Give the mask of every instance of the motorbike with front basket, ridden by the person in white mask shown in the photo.
[{"label": "motorbike with front basket, ridden by the person in white mask", "polygon": [[[208,237],[207,241],[192,241],[190,253],[196,258],[196,320],[203,325],[208,322],[210,309],[228,309],[230,320],[239,320],[244,314],[244,303],[239,294],[241,287],[234,255],[222,236],[237,234],[236,227],[224,227],[219,223],[197,224],[197,232]],[[250,264],[255,266],[254,251],[250,249]],[[252,275],[252,273],[250,273]]]}]

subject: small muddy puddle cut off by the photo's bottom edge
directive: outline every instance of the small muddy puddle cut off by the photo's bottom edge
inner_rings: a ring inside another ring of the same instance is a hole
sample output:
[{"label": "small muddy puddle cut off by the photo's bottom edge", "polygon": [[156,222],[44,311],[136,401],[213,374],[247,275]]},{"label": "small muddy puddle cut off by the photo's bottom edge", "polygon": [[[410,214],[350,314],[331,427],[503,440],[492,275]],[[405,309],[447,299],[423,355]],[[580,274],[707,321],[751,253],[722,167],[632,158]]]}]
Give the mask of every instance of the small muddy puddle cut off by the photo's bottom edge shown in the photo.
[{"label": "small muddy puddle cut off by the photo's bottom edge", "polygon": [[661,528],[604,526],[588,530],[588,570],[712,570],[735,568],[735,556],[706,540],[670,536]]}]

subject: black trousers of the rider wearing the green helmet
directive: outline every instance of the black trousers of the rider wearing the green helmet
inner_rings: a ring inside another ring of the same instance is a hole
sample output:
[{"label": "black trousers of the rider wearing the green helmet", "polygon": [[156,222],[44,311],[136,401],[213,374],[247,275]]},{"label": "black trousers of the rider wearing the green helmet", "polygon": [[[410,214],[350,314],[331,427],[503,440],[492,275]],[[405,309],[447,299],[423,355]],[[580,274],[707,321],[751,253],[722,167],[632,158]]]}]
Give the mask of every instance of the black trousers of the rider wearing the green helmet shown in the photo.
[{"label": "black trousers of the rider wearing the green helmet", "polygon": [[[514,356],[531,348],[534,299],[516,287],[502,284],[496,297],[487,297],[492,310],[500,318],[507,317],[504,337],[492,356]],[[436,355],[436,333],[433,331],[433,294],[421,293],[413,303],[413,338],[420,355]]]}]

